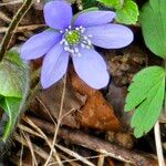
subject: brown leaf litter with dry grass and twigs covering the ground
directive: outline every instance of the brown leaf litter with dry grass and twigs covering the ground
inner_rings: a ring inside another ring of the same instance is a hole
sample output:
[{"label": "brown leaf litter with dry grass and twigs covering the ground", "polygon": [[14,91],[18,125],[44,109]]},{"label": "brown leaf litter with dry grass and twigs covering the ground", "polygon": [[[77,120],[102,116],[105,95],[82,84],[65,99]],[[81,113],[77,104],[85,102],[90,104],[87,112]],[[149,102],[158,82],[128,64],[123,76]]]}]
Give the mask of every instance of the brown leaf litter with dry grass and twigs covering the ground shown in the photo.
[{"label": "brown leaf litter with dry grass and twigs covering the ground", "polygon": [[[9,18],[20,8],[20,2],[11,4],[2,0],[2,3],[0,40]],[[10,46],[20,44],[44,28],[41,7],[41,3],[35,3],[28,12]],[[141,31],[137,29],[135,35],[139,37]],[[48,90],[40,90],[21,117],[9,145],[0,143],[3,149],[10,147],[3,158],[4,165],[157,165],[156,156],[152,155],[155,154],[152,133],[136,141],[128,125],[132,113],[124,113],[126,90],[135,73],[146,65],[160,64],[159,59],[152,56],[142,46],[143,40],[139,39],[131,46],[115,52],[100,50],[105,54],[112,73],[108,89],[91,89],[70,66],[66,80]],[[33,61],[32,65],[39,68],[40,60]],[[0,122],[1,131],[3,123]]]}]

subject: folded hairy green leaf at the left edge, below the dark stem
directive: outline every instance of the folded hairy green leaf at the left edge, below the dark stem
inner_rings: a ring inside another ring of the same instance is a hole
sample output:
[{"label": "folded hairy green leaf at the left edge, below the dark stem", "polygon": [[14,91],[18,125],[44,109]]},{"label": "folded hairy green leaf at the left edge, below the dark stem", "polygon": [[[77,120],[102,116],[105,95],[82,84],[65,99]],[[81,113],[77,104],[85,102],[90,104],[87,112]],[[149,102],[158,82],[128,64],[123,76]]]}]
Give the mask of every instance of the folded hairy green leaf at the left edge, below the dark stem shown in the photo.
[{"label": "folded hairy green leaf at the left edge, below the dark stem", "polygon": [[0,106],[8,114],[2,141],[6,142],[12,133],[21,114],[29,87],[29,68],[15,51],[9,51],[0,63]]}]

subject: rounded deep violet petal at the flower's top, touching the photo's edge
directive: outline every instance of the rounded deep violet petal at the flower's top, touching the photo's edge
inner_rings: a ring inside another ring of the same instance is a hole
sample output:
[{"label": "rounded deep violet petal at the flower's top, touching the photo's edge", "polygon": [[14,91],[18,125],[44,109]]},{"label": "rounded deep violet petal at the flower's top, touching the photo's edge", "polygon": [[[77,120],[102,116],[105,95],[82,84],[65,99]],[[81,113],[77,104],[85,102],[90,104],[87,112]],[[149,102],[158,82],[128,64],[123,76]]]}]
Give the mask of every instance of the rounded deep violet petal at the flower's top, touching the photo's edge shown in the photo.
[{"label": "rounded deep violet petal at the flower's top, touching the photo's edge", "polygon": [[54,29],[64,30],[72,21],[72,8],[65,1],[51,1],[44,6],[45,23]]}]

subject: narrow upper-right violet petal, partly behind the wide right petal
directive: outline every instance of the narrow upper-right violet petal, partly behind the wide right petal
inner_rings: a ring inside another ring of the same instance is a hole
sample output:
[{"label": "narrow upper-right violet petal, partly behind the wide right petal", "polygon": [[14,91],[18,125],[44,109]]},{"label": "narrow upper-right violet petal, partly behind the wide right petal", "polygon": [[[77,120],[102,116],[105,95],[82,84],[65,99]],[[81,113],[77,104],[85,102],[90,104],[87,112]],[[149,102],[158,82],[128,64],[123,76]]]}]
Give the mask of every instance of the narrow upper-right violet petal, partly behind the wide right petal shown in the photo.
[{"label": "narrow upper-right violet petal, partly behind the wide right petal", "polygon": [[94,27],[94,25],[101,25],[106,24],[113,21],[113,19],[116,17],[115,12],[113,11],[87,11],[82,12],[77,15],[75,20],[75,27]]}]

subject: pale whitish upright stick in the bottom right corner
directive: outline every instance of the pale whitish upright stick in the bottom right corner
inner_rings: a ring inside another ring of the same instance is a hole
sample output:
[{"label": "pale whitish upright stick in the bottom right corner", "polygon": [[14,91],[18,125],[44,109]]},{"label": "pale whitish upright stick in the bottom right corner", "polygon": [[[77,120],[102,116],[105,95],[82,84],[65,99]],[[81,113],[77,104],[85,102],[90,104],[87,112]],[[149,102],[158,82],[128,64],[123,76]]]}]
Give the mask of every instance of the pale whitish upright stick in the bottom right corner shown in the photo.
[{"label": "pale whitish upright stick in the bottom right corner", "polygon": [[156,151],[157,151],[157,157],[158,157],[158,166],[165,166],[158,121],[155,124],[154,132],[155,132]]}]

